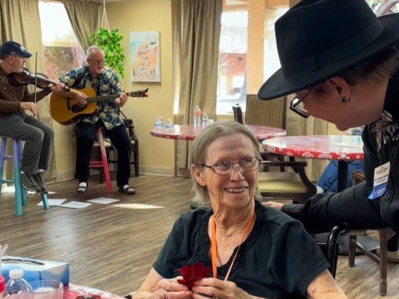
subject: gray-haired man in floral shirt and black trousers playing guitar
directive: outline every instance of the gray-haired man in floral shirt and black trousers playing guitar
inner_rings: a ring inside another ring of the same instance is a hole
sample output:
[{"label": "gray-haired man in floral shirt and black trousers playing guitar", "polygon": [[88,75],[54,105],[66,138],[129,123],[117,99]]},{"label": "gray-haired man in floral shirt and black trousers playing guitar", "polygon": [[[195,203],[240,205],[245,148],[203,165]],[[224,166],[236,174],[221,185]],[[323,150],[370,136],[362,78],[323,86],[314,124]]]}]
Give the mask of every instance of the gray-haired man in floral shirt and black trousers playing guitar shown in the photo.
[{"label": "gray-haired man in floral shirt and black trousers playing guitar", "polygon": [[[116,182],[119,191],[125,194],[135,194],[135,189],[129,185],[130,178],[130,138],[125,124],[119,115],[119,108],[127,101],[127,95],[121,91],[118,76],[110,69],[104,68],[104,52],[97,46],[87,49],[86,61],[88,65],[75,68],[60,78],[60,82],[73,88],[91,87],[96,95],[120,95],[115,100],[99,102],[98,111],[92,115],[82,117],[76,123],[76,172],[79,180],[78,192],[85,192],[89,180],[90,154],[96,133],[100,127],[105,128],[112,145],[118,151],[118,170]],[[87,96],[79,90],[67,93],[58,92],[59,96],[74,97],[81,106],[87,105]]]}]

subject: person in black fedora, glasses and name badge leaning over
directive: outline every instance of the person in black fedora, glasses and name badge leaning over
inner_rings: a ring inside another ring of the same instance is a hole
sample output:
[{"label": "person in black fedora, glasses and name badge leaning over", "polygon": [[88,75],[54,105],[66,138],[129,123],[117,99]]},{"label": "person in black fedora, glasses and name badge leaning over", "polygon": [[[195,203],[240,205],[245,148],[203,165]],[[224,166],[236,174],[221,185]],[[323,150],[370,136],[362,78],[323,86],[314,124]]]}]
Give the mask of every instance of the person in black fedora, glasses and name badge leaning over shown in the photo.
[{"label": "person in black fedora, glasses and name badge leaning over", "polygon": [[[290,109],[341,130],[363,131],[366,182],[317,194],[303,205],[269,202],[311,233],[346,222],[399,233],[399,14],[377,17],[365,0],[302,0],[281,16],[281,68],[260,88],[271,100],[295,93]],[[399,261],[398,239],[389,260]]]}]

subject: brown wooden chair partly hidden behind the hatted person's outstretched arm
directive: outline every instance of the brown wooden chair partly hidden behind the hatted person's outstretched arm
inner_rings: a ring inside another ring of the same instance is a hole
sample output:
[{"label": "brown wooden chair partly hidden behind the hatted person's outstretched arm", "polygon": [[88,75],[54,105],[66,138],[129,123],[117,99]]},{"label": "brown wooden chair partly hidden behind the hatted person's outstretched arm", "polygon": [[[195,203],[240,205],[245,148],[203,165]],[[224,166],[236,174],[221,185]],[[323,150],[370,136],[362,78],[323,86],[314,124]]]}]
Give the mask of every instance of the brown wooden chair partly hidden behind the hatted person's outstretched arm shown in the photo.
[{"label": "brown wooden chair partly hidden behind the hatted person's outstretched arm", "polygon": [[[361,171],[352,171],[352,176],[353,185],[365,180],[365,175]],[[380,229],[378,232],[380,234],[380,256],[372,251],[369,251],[367,248],[363,247],[359,242],[357,242],[357,236],[363,235],[365,231],[350,231],[348,233],[348,265],[349,267],[355,266],[356,249],[371,258],[380,267],[380,295],[387,296],[388,240],[394,234],[394,231],[390,228],[384,228]]]}]

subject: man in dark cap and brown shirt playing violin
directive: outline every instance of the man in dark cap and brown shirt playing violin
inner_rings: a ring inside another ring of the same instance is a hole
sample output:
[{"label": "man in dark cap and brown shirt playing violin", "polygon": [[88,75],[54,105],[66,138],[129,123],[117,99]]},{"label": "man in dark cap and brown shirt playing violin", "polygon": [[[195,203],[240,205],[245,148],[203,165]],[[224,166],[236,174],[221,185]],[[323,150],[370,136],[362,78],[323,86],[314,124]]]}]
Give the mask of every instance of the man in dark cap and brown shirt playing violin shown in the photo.
[{"label": "man in dark cap and brown shirt playing violin", "polygon": [[[51,128],[34,118],[37,114],[35,95],[27,90],[27,84],[17,82],[12,74],[23,69],[26,58],[32,56],[14,42],[6,41],[0,46],[0,136],[25,141],[21,160],[21,184],[30,191],[47,194],[43,170],[50,166],[54,133]],[[61,85],[49,84],[36,93],[40,101]],[[25,114],[30,111],[33,116]]]}]

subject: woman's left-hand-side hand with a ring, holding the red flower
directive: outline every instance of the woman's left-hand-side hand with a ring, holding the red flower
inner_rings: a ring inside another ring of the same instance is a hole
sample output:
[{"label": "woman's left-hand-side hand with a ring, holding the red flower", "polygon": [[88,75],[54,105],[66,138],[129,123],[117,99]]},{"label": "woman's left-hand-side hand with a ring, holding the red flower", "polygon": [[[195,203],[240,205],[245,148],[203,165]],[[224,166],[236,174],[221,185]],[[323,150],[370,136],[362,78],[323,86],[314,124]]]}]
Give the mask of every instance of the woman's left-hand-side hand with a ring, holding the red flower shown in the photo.
[{"label": "woman's left-hand-side hand with a ring, holding the red flower", "polygon": [[[162,279],[152,290],[154,299],[191,299],[192,292],[185,285],[181,285],[177,282],[178,279],[183,279],[182,276],[174,279]],[[167,293],[168,292],[168,293]],[[165,293],[167,295],[165,296]]]}]

